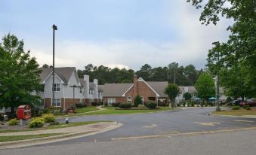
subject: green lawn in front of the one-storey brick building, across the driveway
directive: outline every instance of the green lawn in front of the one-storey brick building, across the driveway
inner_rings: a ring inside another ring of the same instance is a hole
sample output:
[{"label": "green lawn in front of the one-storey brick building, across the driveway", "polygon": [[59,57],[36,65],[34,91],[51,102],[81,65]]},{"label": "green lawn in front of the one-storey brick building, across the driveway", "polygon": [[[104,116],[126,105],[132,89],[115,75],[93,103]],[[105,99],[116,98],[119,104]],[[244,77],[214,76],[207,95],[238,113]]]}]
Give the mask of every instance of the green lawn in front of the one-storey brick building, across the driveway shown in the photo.
[{"label": "green lawn in front of the one-storey brick building, across the driveway", "polygon": [[159,108],[159,109],[149,109],[149,110],[122,110],[122,109],[116,109],[116,107],[103,107],[106,108],[106,110],[103,111],[95,111],[91,113],[85,113],[83,115],[92,115],[92,114],[136,114],[136,113],[150,113],[150,112],[156,112],[156,111],[167,111],[171,110],[170,108]]}]

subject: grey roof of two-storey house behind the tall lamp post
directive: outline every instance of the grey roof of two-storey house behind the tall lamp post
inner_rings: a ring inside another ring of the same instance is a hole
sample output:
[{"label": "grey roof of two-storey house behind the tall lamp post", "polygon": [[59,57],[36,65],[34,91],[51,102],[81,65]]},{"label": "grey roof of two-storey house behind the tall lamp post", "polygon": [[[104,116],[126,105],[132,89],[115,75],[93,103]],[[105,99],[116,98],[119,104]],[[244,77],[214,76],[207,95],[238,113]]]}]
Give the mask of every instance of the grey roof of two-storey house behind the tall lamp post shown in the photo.
[{"label": "grey roof of two-storey house behind the tall lamp post", "polygon": [[[41,83],[45,81],[45,78],[48,78],[48,76],[52,73],[52,68],[39,68],[42,70],[40,74]],[[60,67],[60,68],[54,68],[55,74],[64,82],[68,83],[69,78],[72,75],[72,72],[76,70],[75,67]]]}]

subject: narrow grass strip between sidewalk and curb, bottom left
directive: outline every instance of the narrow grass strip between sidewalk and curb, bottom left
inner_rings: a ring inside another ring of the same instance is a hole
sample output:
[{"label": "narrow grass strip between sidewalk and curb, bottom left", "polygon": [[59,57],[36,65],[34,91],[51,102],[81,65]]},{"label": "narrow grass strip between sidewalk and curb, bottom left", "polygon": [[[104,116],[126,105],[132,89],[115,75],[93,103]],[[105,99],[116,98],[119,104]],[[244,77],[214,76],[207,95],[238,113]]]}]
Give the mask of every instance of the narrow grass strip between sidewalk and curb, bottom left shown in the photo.
[{"label": "narrow grass strip between sidewalk and curb, bottom left", "polygon": [[0,136],[0,142],[5,141],[18,141],[24,139],[32,139],[32,138],[43,138],[49,137],[54,135],[61,135],[62,133],[47,133],[47,134],[39,134],[39,135],[7,135],[7,136]]}]

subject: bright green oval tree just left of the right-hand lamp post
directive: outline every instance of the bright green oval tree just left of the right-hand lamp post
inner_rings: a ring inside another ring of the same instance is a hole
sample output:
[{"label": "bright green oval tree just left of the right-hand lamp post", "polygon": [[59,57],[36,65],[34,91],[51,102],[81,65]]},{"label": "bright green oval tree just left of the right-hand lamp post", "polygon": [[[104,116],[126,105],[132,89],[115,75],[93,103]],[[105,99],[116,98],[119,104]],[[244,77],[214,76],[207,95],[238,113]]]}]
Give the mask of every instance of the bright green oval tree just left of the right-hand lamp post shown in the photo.
[{"label": "bright green oval tree just left of the right-hand lamp post", "polygon": [[204,101],[214,96],[215,87],[211,74],[203,72],[199,79],[196,81],[195,88],[197,96],[199,96],[201,99],[204,99]]}]

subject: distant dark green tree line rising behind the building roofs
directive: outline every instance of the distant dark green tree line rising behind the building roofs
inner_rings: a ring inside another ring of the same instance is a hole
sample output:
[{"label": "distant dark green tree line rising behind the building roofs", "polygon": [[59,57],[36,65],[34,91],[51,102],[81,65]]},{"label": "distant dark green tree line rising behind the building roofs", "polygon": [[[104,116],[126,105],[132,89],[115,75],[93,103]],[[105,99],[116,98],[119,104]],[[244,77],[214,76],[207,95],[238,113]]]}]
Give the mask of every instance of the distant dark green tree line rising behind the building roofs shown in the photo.
[{"label": "distant dark green tree line rising behind the building roofs", "polygon": [[142,65],[140,70],[126,68],[109,68],[104,65],[94,66],[92,64],[85,65],[85,69],[78,70],[79,78],[83,78],[84,74],[90,75],[90,79],[97,78],[99,84],[106,83],[132,83],[133,75],[143,78],[145,81],[168,81],[179,86],[193,86],[202,73],[197,70],[194,65],[179,65],[172,62],[165,67],[153,68],[149,64]]}]

